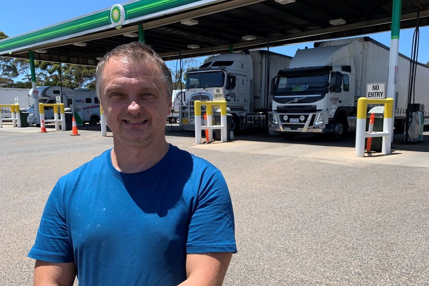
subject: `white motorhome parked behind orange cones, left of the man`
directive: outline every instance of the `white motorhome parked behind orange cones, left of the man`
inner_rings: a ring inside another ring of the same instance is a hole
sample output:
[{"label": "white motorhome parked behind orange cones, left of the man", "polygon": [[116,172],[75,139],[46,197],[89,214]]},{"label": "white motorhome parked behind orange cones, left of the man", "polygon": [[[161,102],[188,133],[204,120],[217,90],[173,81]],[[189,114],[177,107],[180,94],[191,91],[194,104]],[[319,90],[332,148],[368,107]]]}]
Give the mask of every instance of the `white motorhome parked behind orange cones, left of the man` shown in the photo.
[{"label": "white motorhome parked behind orange cones, left of the man", "polygon": [[[57,96],[65,108],[75,116],[76,123],[83,125],[85,122],[97,124],[100,121],[100,101],[95,91],[88,89],[69,89],[59,86],[37,87],[39,103],[57,103]],[[30,90],[32,94],[32,89]],[[53,107],[45,106],[44,115],[46,119],[54,119]],[[30,112],[27,117],[27,124],[40,124],[40,119],[36,118],[35,112]]]}]

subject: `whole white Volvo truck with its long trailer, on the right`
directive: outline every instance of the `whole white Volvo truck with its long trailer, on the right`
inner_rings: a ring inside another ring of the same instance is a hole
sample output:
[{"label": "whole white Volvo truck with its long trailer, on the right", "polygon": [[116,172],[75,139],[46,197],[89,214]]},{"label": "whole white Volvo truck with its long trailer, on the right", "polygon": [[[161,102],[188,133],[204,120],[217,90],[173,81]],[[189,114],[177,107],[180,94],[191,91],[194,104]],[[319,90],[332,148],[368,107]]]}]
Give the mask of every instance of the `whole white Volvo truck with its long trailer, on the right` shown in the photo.
[{"label": "whole white Volvo truck with its long trailer, on the right", "polygon": [[[408,105],[411,60],[398,59],[395,76],[395,123],[401,123]],[[273,80],[269,131],[284,137],[302,133],[332,133],[340,139],[355,130],[357,99],[366,97],[367,84],[385,83],[389,48],[369,38],[357,37],[316,42],[297,50],[288,69]],[[418,64],[415,98],[429,108],[429,67]]]}]

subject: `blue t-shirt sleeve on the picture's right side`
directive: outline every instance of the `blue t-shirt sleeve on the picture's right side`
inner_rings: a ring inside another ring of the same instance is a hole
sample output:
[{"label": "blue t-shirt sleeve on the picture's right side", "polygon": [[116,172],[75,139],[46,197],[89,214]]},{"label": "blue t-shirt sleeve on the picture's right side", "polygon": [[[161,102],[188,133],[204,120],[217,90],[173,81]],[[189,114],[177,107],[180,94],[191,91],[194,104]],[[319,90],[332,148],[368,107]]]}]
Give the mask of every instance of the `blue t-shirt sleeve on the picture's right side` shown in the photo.
[{"label": "blue t-shirt sleeve on the picture's right side", "polygon": [[234,214],[219,170],[204,172],[188,231],[187,253],[237,252]]}]

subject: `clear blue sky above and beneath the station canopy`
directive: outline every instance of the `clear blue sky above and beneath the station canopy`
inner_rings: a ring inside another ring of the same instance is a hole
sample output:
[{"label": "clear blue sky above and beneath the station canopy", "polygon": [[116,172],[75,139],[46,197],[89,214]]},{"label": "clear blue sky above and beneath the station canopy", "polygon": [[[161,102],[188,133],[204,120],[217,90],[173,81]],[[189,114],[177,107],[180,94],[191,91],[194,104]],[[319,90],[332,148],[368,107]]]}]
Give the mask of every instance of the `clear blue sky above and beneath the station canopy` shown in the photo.
[{"label": "clear blue sky above and beneath the station canopy", "polygon": [[[18,4],[19,3],[19,4]],[[98,10],[110,8],[114,0],[18,0],[2,1],[0,31],[9,37],[23,34],[32,30],[47,27]],[[412,51],[414,29],[401,30],[399,52],[410,57]],[[371,38],[390,46],[390,31],[369,35]],[[270,48],[271,51],[294,56],[298,48],[312,47],[312,43],[288,45]],[[204,59],[203,57],[202,59]],[[429,62],[429,26],[420,27],[419,62]],[[176,61],[168,63],[170,68]]]}]

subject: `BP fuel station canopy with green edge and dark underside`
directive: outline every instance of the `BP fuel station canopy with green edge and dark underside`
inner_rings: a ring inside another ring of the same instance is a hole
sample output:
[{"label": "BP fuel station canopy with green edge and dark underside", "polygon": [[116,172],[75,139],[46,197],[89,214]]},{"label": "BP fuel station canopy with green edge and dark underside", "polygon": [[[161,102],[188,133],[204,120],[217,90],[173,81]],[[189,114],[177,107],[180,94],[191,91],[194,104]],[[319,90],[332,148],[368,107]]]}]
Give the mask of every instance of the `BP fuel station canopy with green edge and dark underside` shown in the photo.
[{"label": "BP fuel station canopy with green edge and dark underside", "polygon": [[[108,7],[3,39],[0,55],[29,58],[29,51],[41,51],[34,53],[36,60],[96,65],[115,46],[139,40],[123,35],[138,35],[139,27],[144,41],[164,60],[391,29],[391,0],[282,1],[291,0],[134,0],[122,4],[125,22],[119,29],[110,21]],[[415,27],[419,11],[419,25],[429,25],[429,0],[403,0],[401,29]],[[243,39],[248,35],[254,38]]]}]

